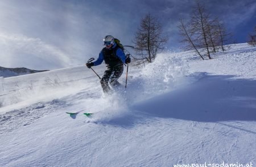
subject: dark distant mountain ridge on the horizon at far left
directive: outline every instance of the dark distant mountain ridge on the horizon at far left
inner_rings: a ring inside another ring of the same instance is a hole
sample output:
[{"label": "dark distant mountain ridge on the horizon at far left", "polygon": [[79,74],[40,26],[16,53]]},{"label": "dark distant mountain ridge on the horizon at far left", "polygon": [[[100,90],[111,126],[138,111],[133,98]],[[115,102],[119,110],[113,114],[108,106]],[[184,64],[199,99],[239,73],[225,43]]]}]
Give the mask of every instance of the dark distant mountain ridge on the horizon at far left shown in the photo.
[{"label": "dark distant mountain ridge on the horizon at far left", "polygon": [[26,74],[33,74],[36,72],[44,72],[49,70],[30,70],[28,68],[5,68],[0,67],[0,76],[3,76],[5,78],[11,77],[11,76],[18,76],[18,75],[26,75]]}]

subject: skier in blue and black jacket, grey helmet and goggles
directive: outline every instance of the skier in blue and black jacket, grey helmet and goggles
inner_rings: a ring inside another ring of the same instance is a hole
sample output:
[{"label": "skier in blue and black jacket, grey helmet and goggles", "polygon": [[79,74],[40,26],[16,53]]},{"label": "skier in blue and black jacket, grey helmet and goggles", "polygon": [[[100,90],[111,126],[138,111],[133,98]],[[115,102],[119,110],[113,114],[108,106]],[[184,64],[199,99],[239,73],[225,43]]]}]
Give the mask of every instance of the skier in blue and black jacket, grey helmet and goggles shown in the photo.
[{"label": "skier in blue and black jacket, grey helmet and goggles", "polygon": [[107,69],[101,78],[101,87],[104,93],[108,93],[111,90],[109,84],[112,87],[120,85],[118,78],[123,73],[123,64],[130,63],[131,58],[126,57],[123,49],[115,43],[113,36],[107,35],[103,41],[105,48],[101,50],[97,61],[86,63],[86,66],[88,68],[98,66],[105,61]]}]

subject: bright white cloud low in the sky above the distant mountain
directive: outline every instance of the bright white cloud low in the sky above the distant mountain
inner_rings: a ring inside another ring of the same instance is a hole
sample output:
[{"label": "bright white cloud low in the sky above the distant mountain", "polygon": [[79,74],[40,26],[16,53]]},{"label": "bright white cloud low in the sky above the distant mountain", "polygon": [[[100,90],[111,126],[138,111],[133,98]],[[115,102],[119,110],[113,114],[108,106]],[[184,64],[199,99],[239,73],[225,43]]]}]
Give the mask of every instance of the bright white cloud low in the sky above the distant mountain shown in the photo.
[{"label": "bright white cloud low in the sky above the distant mountain", "polygon": [[69,56],[40,38],[0,33],[0,62],[3,67],[27,67],[36,70],[69,65]]}]

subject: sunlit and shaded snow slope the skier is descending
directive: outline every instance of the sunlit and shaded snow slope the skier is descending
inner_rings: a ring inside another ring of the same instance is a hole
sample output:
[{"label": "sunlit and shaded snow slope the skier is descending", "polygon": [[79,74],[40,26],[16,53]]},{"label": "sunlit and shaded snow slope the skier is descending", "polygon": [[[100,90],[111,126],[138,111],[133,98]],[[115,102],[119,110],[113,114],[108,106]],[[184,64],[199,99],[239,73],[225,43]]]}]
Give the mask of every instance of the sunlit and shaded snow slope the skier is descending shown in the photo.
[{"label": "sunlit and shaded snow slope the skier is descending", "polygon": [[85,66],[2,79],[0,166],[255,165],[256,49],[212,57],[159,54],[111,96]]}]

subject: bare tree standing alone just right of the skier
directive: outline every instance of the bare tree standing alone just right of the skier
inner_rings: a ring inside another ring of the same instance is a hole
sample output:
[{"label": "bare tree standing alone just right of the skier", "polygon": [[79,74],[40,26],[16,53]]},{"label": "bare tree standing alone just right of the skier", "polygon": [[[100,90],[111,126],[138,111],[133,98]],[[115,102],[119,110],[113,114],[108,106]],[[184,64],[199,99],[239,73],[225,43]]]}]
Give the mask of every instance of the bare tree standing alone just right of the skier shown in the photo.
[{"label": "bare tree standing alone just right of the skier", "polygon": [[141,62],[144,59],[147,62],[152,62],[156,54],[164,49],[164,45],[168,41],[168,36],[162,35],[162,24],[158,22],[154,16],[147,14],[141,20],[141,25],[135,33],[133,40],[137,54],[142,58],[134,58]]}]

